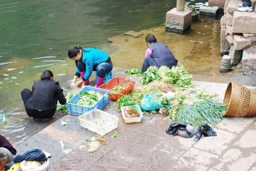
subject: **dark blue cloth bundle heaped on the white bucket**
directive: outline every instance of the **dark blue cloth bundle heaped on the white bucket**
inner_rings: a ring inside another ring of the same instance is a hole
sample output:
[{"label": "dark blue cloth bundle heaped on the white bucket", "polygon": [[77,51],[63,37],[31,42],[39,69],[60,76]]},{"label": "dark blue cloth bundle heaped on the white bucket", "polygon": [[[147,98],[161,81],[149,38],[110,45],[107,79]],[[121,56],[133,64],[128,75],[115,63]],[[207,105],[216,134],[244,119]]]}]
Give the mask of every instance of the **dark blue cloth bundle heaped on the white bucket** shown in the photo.
[{"label": "dark blue cloth bundle heaped on the white bucket", "polygon": [[19,163],[19,162],[22,162],[23,160],[26,160],[26,161],[36,160],[41,164],[43,164],[47,160],[47,158],[45,156],[45,153],[43,153],[42,150],[35,148],[33,150],[28,150],[23,155],[17,155],[16,157],[14,157],[13,162]]}]

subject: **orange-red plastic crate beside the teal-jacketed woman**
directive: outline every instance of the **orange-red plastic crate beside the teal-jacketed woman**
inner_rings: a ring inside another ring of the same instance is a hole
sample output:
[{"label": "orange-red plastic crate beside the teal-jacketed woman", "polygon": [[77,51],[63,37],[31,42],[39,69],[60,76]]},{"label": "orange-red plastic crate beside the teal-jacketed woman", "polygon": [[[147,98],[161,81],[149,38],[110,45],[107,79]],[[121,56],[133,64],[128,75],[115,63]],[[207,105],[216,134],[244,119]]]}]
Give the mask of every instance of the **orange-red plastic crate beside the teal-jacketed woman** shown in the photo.
[{"label": "orange-red plastic crate beside the teal-jacketed woman", "polygon": [[[110,91],[109,98],[113,101],[117,101],[120,97],[132,92],[134,89],[134,85],[135,85],[135,81],[133,81],[129,78],[114,77],[113,79],[109,80],[108,82],[102,84],[99,88],[109,90]],[[113,89],[116,86],[127,86],[127,87],[126,87],[126,89],[121,91],[119,94],[111,93],[111,89]]]}]

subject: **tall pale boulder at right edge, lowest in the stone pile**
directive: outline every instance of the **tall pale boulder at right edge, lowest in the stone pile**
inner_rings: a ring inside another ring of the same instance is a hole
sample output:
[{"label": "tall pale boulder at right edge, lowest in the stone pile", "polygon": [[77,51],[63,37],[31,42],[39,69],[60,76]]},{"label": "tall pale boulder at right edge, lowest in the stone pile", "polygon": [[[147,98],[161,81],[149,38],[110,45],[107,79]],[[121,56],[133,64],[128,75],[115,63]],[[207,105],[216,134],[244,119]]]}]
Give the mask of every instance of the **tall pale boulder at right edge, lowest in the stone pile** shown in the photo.
[{"label": "tall pale boulder at right edge, lowest in the stone pile", "polygon": [[244,75],[256,74],[256,45],[244,49],[241,62]]}]

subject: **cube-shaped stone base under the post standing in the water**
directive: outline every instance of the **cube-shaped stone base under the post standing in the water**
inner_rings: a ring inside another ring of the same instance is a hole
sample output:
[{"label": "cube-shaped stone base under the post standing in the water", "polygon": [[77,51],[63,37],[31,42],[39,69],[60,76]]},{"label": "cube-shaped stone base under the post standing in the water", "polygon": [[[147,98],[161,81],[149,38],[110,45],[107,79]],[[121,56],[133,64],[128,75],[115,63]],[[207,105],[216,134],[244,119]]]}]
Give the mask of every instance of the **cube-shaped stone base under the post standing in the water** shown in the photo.
[{"label": "cube-shaped stone base under the post standing in the water", "polygon": [[185,9],[184,11],[177,11],[176,8],[173,8],[166,13],[165,28],[168,32],[184,34],[188,30],[190,30],[191,22],[192,11],[187,9]]}]

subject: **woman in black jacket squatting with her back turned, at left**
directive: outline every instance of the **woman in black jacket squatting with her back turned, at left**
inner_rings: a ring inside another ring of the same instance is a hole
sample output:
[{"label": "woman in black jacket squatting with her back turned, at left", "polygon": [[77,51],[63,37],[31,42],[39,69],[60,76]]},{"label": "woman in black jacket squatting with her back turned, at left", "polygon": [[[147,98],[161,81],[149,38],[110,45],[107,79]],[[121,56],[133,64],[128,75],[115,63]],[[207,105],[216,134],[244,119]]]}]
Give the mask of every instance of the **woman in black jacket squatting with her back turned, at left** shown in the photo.
[{"label": "woman in black jacket squatting with her back turned, at left", "polygon": [[32,91],[21,91],[21,98],[28,116],[50,119],[55,114],[57,102],[64,105],[66,98],[59,87],[59,82],[53,80],[52,71],[45,70],[40,78],[34,82]]}]

